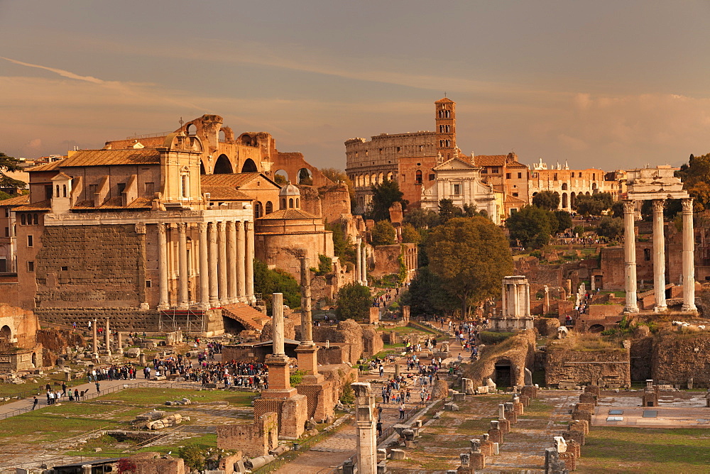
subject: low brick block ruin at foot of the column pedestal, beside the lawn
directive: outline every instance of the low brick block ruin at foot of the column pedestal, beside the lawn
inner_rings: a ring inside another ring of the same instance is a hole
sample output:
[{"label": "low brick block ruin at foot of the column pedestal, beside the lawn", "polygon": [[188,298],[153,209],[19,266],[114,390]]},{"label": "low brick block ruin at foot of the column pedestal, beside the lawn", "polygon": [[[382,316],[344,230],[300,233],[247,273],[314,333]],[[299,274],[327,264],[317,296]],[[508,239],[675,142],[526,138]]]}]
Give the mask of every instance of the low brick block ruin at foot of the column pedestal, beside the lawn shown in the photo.
[{"label": "low brick block ruin at foot of the column pedestal, beside the lawn", "polygon": [[[278,409],[277,406],[273,407]],[[251,424],[226,424],[217,426],[217,447],[234,449],[244,456],[266,456],[278,446],[278,414],[265,412],[254,417]]]}]

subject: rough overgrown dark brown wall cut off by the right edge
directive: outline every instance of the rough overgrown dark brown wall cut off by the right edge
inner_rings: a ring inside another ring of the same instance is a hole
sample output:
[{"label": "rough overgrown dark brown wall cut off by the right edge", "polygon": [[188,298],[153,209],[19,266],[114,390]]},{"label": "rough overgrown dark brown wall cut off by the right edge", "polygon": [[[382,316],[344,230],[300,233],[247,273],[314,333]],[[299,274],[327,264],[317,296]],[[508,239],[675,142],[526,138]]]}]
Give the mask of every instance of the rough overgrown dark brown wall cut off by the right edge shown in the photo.
[{"label": "rough overgrown dark brown wall cut off by the right edge", "polygon": [[710,334],[665,334],[653,348],[652,378],[694,387],[710,387]]}]

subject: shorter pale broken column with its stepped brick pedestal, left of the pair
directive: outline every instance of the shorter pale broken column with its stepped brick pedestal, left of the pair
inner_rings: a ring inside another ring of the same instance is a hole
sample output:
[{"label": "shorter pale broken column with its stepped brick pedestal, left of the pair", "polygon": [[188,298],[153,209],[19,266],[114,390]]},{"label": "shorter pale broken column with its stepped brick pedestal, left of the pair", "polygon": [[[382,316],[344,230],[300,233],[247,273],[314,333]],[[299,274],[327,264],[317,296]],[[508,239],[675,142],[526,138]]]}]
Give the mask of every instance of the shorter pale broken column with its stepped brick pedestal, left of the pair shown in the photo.
[{"label": "shorter pale broken column with its stepped brick pedestal, left of the pair", "polygon": [[297,439],[305,431],[307,400],[290,384],[288,357],[283,346],[283,294],[274,293],[273,353],[266,356],[268,390],[254,400],[254,420],[269,412],[278,413],[278,433],[285,439]]}]

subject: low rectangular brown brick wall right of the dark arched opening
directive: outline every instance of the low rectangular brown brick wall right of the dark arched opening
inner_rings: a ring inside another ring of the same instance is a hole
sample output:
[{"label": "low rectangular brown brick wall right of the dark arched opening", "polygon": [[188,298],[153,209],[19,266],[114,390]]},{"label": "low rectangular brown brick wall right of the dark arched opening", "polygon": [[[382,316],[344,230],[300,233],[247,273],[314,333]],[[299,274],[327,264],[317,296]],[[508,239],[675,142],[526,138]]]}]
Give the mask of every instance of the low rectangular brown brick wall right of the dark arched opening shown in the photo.
[{"label": "low rectangular brown brick wall right of the dark arched opening", "polygon": [[628,348],[584,350],[547,346],[545,383],[559,385],[598,385],[630,387],[630,353]]}]

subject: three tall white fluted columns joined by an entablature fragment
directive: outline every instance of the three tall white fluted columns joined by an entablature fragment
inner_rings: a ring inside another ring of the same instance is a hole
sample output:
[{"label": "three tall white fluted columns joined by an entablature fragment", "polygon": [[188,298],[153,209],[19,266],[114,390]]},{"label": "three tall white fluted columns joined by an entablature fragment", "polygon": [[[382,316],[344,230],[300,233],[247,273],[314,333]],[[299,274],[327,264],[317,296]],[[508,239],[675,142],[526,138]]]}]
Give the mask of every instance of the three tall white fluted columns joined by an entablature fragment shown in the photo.
[{"label": "three tall white fluted columns joined by an entablature fragment", "polygon": [[666,199],[681,199],[683,224],[682,285],[683,312],[696,312],[693,199],[683,189],[683,183],[670,166],[629,170],[627,199],[623,201],[624,216],[624,277],[626,304],[624,312],[638,312],[636,281],[635,215],[640,202],[651,201],[653,209],[653,289],[655,312],[665,312],[666,265],[663,205]]}]

